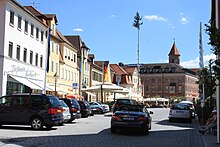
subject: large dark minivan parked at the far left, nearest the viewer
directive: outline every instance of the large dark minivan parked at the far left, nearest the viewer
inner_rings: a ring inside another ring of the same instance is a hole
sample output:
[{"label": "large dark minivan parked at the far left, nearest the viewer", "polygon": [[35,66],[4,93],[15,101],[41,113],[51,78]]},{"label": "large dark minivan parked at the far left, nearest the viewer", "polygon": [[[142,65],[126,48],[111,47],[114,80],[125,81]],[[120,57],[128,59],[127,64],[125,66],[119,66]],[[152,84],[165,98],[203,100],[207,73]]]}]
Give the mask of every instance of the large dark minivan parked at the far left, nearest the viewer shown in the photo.
[{"label": "large dark minivan parked at the far left, nearest the viewer", "polygon": [[31,125],[39,130],[62,122],[62,106],[56,96],[20,93],[0,97],[0,126]]}]

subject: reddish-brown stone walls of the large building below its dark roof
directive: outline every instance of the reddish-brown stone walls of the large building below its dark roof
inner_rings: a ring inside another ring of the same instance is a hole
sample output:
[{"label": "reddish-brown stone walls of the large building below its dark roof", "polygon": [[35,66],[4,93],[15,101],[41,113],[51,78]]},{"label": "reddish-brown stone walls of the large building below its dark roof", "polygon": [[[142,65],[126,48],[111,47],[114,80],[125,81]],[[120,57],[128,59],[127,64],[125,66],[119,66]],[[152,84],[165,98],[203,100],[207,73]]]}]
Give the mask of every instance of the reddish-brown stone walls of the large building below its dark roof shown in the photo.
[{"label": "reddish-brown stone walls of the large building below its dark roof", "polygon": [[158,73],[141,75],[144,83],[144,97],[198,98],[198,80],[185,73]]}]

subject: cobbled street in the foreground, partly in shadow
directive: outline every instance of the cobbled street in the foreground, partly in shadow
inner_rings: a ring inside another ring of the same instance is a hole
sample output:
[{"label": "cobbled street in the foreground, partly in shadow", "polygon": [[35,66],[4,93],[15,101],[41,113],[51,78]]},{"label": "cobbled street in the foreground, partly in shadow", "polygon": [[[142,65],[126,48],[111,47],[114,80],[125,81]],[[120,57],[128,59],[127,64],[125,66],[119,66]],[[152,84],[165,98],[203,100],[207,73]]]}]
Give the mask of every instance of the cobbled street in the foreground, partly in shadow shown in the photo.
[{"label": "cobbled street in the foreground, partly in shadow", "polygon": [[81,118],[51,130],[34,131],[30,126],[2,126],[0,146],[203,146],[197,122],[169,122],[167,108],[150,108],[152,129],[149,135],[136,132],[110,132],[110,115]]}]

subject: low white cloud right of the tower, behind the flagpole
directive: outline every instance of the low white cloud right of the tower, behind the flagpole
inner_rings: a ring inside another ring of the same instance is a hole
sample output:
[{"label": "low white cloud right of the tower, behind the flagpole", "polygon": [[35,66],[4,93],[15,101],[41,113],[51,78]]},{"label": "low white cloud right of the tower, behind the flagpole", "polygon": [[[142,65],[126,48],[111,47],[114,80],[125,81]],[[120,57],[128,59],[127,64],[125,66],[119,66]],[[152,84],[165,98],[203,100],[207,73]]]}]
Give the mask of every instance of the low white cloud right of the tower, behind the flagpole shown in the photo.
[{"label": "low white cloud right of the tower, behind the flagpole", "polygon": [[[216,56],[214,54],[209,54],[209,55],[203,56],[204,66],[208,66],[210,59],[215,60]],[[197,57],[193,60],[180,62],[180,65],[185,68],[199,68],[199,57]]]}]

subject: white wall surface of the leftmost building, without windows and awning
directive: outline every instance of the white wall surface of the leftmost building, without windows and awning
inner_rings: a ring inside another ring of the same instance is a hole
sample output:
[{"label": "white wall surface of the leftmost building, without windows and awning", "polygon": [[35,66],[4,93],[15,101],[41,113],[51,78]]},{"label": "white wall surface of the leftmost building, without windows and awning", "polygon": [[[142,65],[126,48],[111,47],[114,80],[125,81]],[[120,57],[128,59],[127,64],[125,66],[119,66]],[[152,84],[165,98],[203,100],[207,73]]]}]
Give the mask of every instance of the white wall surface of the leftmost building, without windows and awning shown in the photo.
[{"label": "white wall surface of the leftmost building, without windows and awning", "polygon": [[[2,43],[1,62],[2,73],[0,77],[0,95],[6,94],[6,86],[9,75],[16,75],[27,79],[32,79],[36,84],[43,85],[45,77],[45,53],[47,46],[47,27],[37,18],[24,11],[13,1],[8,1],[7,5],[0,3],[0,27],[3,35],[0,38]],[[2,5],[3,4],[3,5]],[[10,11],[14,12],[14,24],[10,23]],[[4,17],[5,16],[5,17]],[[21,19],[21,28],[18,28],[18,16]],[[28,31],[25,32],[25,20],[28,21]],[[4,22],[4,24],[3,24]],[[34,35],[31,35],[31,24],[34,25]],[[5,26],[5,27],[4,27]],[[39,29],[39,38],[36,38],[36,28]],[[43,40],[41,40],[41,31]],[[12,57],[9,56],[9,42],[13,44]],[[20,47],[20,53],[17,48]],[[27,50],[27,58],[24,61],[24,50]],[[30,52],[33,52],[32,63],[30,63]],[[19,56],[18,56],[19,55]],[[38,56],[36,56],[38,55]],[[19,58],[18,58],[19,57]],[[42,60],[40,59],[42,57]],[[37,64],[35,63],[37,59]],[[40,61],[42,61],[40,64]],[[42,65],[42,66],[41,66]],[[43,87],[43,86],[42,86]]]}]

